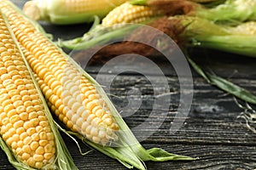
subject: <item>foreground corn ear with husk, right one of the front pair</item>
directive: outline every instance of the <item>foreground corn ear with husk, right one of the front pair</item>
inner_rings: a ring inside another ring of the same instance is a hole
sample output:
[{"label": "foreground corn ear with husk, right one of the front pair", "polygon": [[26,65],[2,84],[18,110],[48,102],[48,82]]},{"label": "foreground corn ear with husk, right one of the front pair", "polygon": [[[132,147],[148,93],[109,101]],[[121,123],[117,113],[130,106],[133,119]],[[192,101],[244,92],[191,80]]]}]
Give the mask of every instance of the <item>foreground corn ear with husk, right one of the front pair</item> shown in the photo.
[{"label": "foreground corn ear with husk, right one of the front pair", "polygon": [[8,1],[3,2],[3,13],[10,20],[49,106],[80,139],[130,168],[145,169],[143,161],[148,160],[192,159],[160,149],[145,150],[101,86],[38,31],[35,23]]}]

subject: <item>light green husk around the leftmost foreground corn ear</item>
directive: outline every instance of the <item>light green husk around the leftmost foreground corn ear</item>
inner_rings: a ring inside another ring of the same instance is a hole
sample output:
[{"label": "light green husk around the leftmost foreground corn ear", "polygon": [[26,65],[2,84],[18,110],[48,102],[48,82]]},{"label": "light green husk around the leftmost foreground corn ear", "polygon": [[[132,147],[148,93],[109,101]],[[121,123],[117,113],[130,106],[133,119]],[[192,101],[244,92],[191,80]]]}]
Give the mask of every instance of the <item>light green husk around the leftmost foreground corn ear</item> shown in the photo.
[{"label": "light green husk around the leftmost foreground corn ear", "polygon": [[[53,165],[47,165],[46,167],[44,167],[45,169],[59,169],[59,170],[67,170],[67,169],[78,169],[74,162],[73,159],[69,153],[69,151],[67,150],[67,146],[64,143],[63,139],[61,138],[61,134],[58,131],[58,128],[55,125],[55,122],[53,120],[53,117],[51,116],[51,113],[49,111],[49,108],[45,102],[44,96],[41,93],[40,88],[38,87],[38,83],[35,80],[35,77],[33,77],[32,74],[32,70],[30,68],[30,66],[28,65],[25,56],[22,54],[19,43],[17,42],[14,33],[11,31],[11,28],[9,26],[9,21],[8,19],[4,16],[3,14],[3,19],[6,22],[9,32],[15,42],[16,47],[19,49],[19,52],[21,54],[21,57],[23,58],[26,67],[28,69],[28,71],[30,72],[30,76],[32,77],[32,81],[34,82],[35,87],[37,88],[38,94],[40,96],[40,99],[43,102],[44,105],[44,112],[48,118],[49,121],[49,125],[51,127],[52,132],[54,133],[55,136],[55,144],[56,144],[56,160],[55,160],[55,164]],[[17,160],[15,158],[14,153],[12,152],[12,150],[8,147],[8,145],[4,142],[4,140],[2,139],[2,137],[0,137],[0,146],[2,148],[2,150],[6,153],[6,155],[8,156],[8,160],[9,162],[13,165],[13,167],[15,167],[18,170],[34,170],[34,168],[27,166],[26,164],[24,164],[23,162],[20,162],[19,160]]]}]

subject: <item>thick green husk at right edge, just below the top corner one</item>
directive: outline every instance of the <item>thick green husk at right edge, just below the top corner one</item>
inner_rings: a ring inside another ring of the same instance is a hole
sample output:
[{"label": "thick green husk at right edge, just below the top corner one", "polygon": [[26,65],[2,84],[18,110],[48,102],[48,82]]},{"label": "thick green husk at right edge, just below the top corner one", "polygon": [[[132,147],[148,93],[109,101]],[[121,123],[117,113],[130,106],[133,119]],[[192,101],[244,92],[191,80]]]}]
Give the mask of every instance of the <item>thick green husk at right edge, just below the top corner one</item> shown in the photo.
[{"label": "thick green husk at right edge, just below the top corner one", "polygon": [[179,27],[184,28],[181,37],[188,40],[187,46],[214,48],[256,57],[256,22],[241,23],[238,26],[224,26],[209,20],[185,15],[174,16],[169,19],[171,21],[180,20]]}]

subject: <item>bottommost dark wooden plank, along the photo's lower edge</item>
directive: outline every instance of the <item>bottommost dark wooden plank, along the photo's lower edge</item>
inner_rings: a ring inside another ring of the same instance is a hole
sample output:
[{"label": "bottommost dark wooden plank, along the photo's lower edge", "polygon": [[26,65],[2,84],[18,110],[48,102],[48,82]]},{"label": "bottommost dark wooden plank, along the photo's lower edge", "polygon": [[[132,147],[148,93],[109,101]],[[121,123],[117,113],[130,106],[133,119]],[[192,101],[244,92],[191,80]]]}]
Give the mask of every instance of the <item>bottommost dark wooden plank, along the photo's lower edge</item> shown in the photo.
[{"label": "bottommost dark wooden plank, along the photo's lower edge", "polygon": [[[74,144],[69,140],[67,143],[73,146],[71,153],[73,160],[80,170],[88,169],[119,169],[125,170],[118,161],[94,150],[86,156],[81,156]],[[179,170],[197,170],[197,169],[244,169],[249,170],[256,167],[255,155],[256,147],[253,146],[234,146],[234,145],[189,145],[189,144],[143,144],[146,148],[161,147],[173,153],[198,157],[195,161],[166,161],[153,162],[146,161],[148,170],[154,169],[179,169]],[[71,147],[70,147],[71,148]],[[82,147],[83,148],[83,147]],[[84,148],[83,148],[84,149]],[[88,150],[88,149],[86,149]],[[1,167],[0,169],[13,169],[0,151]]]}]

